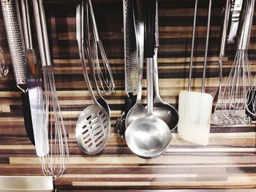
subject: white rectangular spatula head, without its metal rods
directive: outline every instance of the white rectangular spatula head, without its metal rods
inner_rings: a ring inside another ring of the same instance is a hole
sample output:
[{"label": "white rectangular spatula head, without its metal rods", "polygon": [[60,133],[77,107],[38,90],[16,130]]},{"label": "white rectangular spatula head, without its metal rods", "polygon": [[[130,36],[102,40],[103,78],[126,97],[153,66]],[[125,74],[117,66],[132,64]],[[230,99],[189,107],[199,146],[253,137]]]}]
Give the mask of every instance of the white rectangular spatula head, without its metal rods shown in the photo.
[{"label": "white rectangular spatula head, without its metal rods", "polygon": [[207,145],[213,98],[208,93],[181,91],[178,100],[178,134],[182,139]]}]

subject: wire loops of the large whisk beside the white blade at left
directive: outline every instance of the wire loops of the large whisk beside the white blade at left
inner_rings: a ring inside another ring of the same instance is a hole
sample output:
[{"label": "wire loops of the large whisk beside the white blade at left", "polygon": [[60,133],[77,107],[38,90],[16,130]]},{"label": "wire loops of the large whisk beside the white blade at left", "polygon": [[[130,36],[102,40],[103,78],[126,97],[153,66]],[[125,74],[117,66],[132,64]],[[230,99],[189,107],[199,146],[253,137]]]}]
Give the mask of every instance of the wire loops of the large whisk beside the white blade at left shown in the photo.
[{"label": "wire loops of the large whisk beside the white blade at left", "polygon": [[[45,138],[45,142],[48,142],[46,145],[49,145],[49,153],[40,157],[40,161],[43,173],[53,176],[53,179],[56,180],[63,174],[69,163],[67,133],[58,104],[53,67],[43,66],[42,73],[45,88],[43,97],[45,102],[45,133],[49,135],[49,138]],[[45,133],[42,133],[42,137],[45,136]]]}]

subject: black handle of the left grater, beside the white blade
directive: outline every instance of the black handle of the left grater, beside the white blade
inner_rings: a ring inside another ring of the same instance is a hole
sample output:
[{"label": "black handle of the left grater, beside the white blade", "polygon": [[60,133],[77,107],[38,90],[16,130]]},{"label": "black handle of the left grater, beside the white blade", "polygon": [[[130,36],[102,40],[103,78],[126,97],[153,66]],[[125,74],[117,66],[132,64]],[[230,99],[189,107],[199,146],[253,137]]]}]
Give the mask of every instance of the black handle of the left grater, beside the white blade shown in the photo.
[{"label": "black handle of the left grater, beside the white blade", "polygon": [[33,124],[31,120],[31,110],[29,103],[29,92],[21,93],[22,107],[23,107],[23,118],[26,128],[26,134],[29,137],[29,140],[34,145],[34,131]]}]

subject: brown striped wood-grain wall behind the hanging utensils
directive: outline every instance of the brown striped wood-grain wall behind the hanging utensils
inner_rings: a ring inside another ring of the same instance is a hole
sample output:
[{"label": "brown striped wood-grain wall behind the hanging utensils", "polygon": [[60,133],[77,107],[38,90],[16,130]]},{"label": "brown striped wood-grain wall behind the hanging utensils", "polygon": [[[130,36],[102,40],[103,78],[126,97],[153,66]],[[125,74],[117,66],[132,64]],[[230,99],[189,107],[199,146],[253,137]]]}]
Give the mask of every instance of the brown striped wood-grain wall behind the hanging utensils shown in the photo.
[{"label": "brown striped wood-grain wall behind the hanging utensils", "polygon": [[[175,107],[178,107],[179,91],[187,88],[194,3],[192,0],[159,0],[159,86],[162,99]],[[92,103],[75,39],[75,1],[47,0],[45,4],[56,88],[70,153],[70,164],[54,182],[56,188],[59,191],[174,188],[244,188],[246,191],[255,188],[255,123],[237,127],[211,126],[210,142],[205,147],[185,142],[175,130],[170,147],[159,158],[145,160],[132,154],[115,128],[125,96],[122,1],[94,0],[93,4],[99,37],[116,83],[116,94],[105,96],[111,109],[110,139],[105,149],[93,156],[82,153],[75,139],[78,116]],[[219,80],[219,35],[224,5],[223,0],[213,1],[206,72],[206,93],[212,96]],[[203,71],[207,7],[208,1],[199,0],[192,84],[196,91],[200,91]],[[252,74],[255,74],[256,20],[253,23],[249,60]],[[10,66],[9,74],[0,81],[0,175],[42,175],[34,146],[26,137],[20,91],[15,86],[2,15],[0,43]],[[236,45],[227,45],[225,79],[235,54]],[[145,75],[142,101],[146,104]]]}]

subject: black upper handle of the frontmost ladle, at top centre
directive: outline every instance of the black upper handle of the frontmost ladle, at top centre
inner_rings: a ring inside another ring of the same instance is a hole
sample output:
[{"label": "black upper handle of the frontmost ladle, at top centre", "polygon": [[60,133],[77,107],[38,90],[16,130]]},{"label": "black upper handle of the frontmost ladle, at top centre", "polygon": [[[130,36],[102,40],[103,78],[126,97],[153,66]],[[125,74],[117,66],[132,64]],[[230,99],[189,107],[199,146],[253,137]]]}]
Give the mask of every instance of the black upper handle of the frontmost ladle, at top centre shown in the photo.
[{"label": "black upper handle of the frontmost ladle, at top centre", "polygon": [[144,0],[146,25],[146,58],[154,56],[154,32],[157,0]]}]

